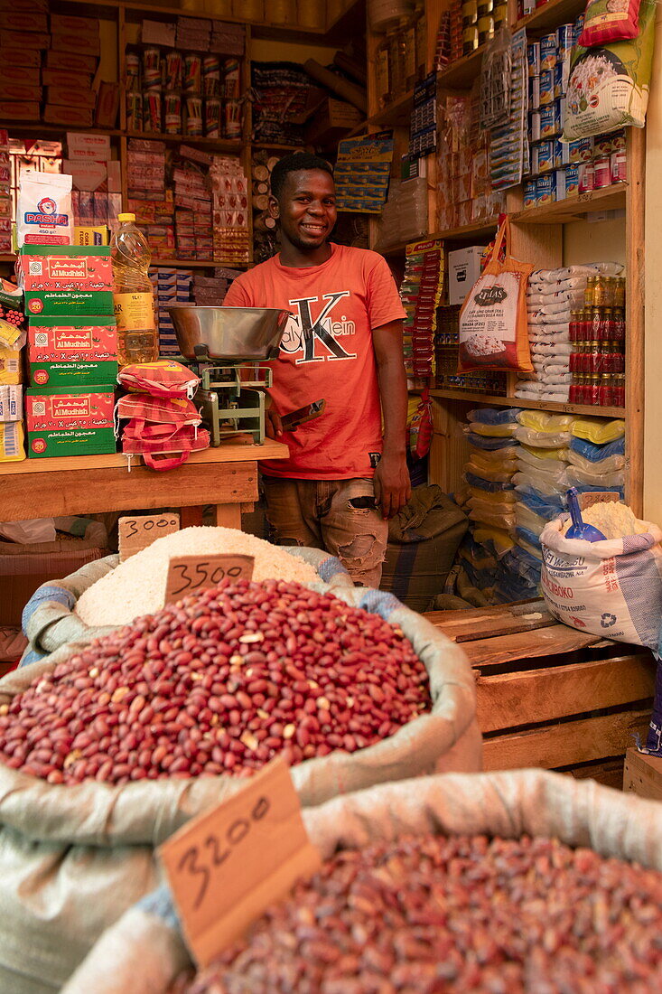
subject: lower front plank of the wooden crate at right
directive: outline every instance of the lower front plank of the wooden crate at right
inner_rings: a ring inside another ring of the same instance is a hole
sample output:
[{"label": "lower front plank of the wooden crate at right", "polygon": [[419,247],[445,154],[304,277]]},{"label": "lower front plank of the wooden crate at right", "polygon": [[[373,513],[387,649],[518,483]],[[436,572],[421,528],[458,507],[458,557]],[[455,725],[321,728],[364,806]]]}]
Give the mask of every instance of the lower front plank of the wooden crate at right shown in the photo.
[{"label": "lower front plank of the wooden crate at right", "polygon": [[650,709],[619,715],[583,718],[483,740],[483,769],[519,769],[524,766],[572,766],[606,756],[624,754],[636,735],[644,735]]}]

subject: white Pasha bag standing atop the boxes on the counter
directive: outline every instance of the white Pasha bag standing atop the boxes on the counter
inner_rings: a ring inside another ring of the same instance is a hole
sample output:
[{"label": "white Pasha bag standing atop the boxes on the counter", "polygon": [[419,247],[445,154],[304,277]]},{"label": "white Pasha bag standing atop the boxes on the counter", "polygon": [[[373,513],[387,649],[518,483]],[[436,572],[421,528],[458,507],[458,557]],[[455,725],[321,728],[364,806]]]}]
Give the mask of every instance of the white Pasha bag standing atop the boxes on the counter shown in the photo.
[{"label": "white Pasha bag standing atop the boxes on the counter", "polygon": [[74,238],[72,177],[25,172],[19,180],[16,234],[23,245],[69,246]]}]

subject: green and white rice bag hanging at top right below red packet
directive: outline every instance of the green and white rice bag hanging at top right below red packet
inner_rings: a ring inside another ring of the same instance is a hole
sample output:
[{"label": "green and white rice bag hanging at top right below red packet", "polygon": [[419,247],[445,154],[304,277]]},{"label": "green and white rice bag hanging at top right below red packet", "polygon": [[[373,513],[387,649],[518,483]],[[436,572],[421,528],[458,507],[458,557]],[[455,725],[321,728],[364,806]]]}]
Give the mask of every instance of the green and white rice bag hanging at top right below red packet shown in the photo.
[{"label": "green and white rice bag hanging at top right below red packet", "polygon": [[644,126],[654,35],[655,0],[642,0],[636,38],[573,49],[564,141]]}]

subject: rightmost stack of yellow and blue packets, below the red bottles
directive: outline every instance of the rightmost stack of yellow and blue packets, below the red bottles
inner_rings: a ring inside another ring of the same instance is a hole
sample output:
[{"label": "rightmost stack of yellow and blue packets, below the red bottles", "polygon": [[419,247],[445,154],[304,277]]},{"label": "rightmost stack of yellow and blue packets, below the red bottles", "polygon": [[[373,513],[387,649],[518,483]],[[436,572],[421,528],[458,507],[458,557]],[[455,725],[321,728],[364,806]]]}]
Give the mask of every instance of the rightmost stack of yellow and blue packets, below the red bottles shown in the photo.
[{"label": "rightmost stack of yellow and blue packets, below the red bottles", "polygon": [[613,490],[624,499],[625,421],[577,417],[567,458],[569,486],[579,492]]}]

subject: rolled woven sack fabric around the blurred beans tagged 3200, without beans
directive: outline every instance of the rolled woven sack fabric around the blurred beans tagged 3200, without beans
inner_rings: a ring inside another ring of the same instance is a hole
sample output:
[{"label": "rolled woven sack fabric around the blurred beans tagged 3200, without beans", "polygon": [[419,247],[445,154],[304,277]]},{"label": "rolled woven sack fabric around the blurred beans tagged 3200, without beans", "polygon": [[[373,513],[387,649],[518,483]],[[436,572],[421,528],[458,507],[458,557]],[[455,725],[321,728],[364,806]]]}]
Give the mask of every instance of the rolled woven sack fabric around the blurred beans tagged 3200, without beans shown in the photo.
[{"label": "rolled woven sack fabric around the blurred beans tagged 3200, without beans", "polygon": [[[338,797],[303,812],[323,859],[403,835],[557,838],[662,870],[659,803],[542,769],[429,776]],[[62,994],[166,994],[190,965],[163,888],[103,935]]]}]

